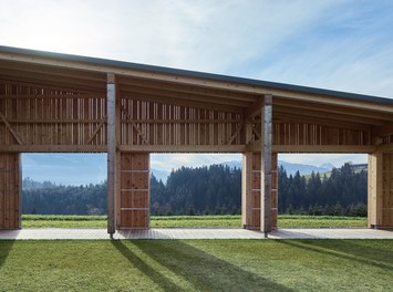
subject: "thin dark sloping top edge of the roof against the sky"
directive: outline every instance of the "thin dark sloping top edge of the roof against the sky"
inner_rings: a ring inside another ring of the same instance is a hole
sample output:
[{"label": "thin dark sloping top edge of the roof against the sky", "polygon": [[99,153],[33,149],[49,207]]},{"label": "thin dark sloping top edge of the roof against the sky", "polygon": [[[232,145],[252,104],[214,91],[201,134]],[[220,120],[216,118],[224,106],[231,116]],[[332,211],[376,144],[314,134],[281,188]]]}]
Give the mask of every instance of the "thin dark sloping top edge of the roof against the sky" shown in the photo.
[{"label": "thin dark sloping top edge of the roof against the sky", "polygon": [[39,51],[39,50],[21,49],[21,48],[4,46],[4,45],[0,45],[0,52],[15,53],[15,54],[28,54],[28,55],[35,55],[35,56],[43,56],[43,58],[52,58],[52,59],[62,59],[62,60],[74,61],[74,62],[91,63],[91,64],[95,64],[95,65],[117,66],[117,67],[123,67],[123,69],[133,69],[133,70],[141,70],[141,71],[153,71],[153,72],[157,72],[157,73],[200,77],[200,79],[224,81],[224,82],[230,82],[230,83],[239,83],[239,84],[245,84],[245,85],[261,86],[261,87],[268,87],[268,88],[275,88],[275,90],[294,91],[294,92],[328,95],[328,96],[334,96],[334,97],[352,98],[352,100],[365,101],[365,102],[393,104],[393,100],[387,98],[387,97],[356,94],[356,93],[350,93],[350,92],[331,91],[331,90],[323,90],[323,88],[317,88],[317,87],[309,87],[309,86],[278,83],[278,82],[269,82],[269,81],[261,81],[261,80],[252,80],[252,79],[245,79],[245,77],[236,77],[236,76],[228,76],[228,75],[214,74],[214,73],[204,73],[204,72],[182,70],[182,69],[146,65],[146,64],[139,64],[139,63],[124,62],[124,61],[114,61],[114,60],[92,58],[92,56],[45,52],[45,51]]}]

